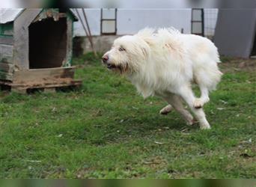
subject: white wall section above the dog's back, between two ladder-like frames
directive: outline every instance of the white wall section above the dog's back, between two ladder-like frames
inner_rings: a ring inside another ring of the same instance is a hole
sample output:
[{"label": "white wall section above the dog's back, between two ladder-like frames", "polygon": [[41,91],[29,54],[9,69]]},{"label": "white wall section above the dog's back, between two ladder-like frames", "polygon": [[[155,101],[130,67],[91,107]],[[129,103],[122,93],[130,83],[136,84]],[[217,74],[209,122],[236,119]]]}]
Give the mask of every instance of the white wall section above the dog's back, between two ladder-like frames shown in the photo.
[{"label": "white wall section above the dog's back, between two ladder-like frames", "polygon": [[134,34],[145,27],[183,28],[190,33],[191,9],[118,9],[118,34]]}]

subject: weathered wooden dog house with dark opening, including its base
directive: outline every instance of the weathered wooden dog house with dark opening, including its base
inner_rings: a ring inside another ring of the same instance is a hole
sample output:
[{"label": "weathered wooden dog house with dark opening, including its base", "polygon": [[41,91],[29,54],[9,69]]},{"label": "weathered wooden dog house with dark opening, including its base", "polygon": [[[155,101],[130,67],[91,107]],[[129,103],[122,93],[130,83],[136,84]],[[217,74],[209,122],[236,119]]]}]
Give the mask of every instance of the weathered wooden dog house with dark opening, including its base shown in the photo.
[{"label": "weathered wooden dog house with dark opening, including its base", "polygon": [[70,9],[0,10],[0,84],[32,88],[81,85],[73,80],[73,22]]}]

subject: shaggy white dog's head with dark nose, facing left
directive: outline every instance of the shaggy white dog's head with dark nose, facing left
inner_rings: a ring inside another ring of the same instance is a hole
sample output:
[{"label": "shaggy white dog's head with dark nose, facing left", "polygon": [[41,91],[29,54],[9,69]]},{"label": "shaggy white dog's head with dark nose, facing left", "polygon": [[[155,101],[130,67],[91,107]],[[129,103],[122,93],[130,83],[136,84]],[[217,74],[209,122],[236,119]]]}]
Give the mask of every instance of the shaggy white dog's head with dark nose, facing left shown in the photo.
[{"label": "shaggy white dog's head with dark nose, facing left", "polygon": [[137,72],[150,54],[148,44],[136,35],[119,37],[102,61],[111,70],[123,73]]}]

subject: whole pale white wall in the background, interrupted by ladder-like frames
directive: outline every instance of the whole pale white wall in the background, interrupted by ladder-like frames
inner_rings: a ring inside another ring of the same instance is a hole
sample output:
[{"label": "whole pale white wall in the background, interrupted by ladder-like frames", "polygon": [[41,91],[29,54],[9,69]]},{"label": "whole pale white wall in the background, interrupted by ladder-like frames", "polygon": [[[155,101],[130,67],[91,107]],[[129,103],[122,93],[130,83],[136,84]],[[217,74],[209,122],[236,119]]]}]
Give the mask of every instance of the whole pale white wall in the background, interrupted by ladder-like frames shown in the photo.
[{"label": "whole pale white wall in the background, interrupted by ladder-like frames", "polygon": [[[85,9],[91,34],[100,35],[100,8]],[[82,10],[79,10],[82,16]],[[214,34],[218,9],[204,9],[205,34]],[[108,14],[109,16],[109,14]],[[82,16],[83,18],[83,16]],[[174,27],[184,33],[191,32],[191,9],[123,9],[118,8],[117,34],[135,34],[145,27]],[[76,36],[85,36],[85,31],[80,22],[75,22],[74,33]]]}]

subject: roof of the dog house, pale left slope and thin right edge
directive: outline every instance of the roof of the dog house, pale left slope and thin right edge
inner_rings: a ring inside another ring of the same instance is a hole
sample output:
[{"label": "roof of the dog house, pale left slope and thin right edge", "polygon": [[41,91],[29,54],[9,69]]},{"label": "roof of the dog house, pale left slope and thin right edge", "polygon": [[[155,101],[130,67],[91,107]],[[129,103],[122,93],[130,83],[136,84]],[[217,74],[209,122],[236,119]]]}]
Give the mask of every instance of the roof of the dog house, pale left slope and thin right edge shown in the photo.
[{"label": "roof of the dog house, pale left slope and thin right edge", "polygon": [[[7,22],[13,22],[25,8],[0,8],[0,24],[4,24]],[[76,15],[73,13],[71,9],[70,13],[74,16],[76,20]]]}]

